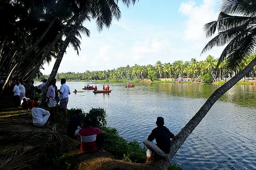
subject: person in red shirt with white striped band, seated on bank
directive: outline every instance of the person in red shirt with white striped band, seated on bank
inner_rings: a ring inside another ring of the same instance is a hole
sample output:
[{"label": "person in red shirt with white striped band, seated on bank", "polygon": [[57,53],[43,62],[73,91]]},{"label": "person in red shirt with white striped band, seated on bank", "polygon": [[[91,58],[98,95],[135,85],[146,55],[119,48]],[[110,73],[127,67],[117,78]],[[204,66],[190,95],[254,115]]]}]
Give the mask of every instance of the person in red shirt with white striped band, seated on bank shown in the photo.
[{"label": "person in red shirt with white striped band, seated on bank", "polygon": [[81,138],[81,151],[82,152],[104,152],[101,148],[104,144],[104,131],[99,128],[92,127],[92,121],[90,119],[84,122],[84,128],[78,132]]}]

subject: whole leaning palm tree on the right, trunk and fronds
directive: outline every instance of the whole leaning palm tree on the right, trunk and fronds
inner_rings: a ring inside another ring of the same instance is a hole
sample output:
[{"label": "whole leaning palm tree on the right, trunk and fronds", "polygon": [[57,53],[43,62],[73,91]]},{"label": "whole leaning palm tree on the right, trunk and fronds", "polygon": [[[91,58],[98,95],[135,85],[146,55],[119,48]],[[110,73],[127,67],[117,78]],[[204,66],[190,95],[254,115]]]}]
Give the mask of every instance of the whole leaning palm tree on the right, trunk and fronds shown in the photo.
[{"label": "whole leaning palm tree on the right, trunk and fronds", "polygon": [[[221,12],[218,20],[207,23],[204,27],[207,37],[211,37],[216,33],[217,35],[206,44],[202,53],[215,46],[223,46],[227,43],[228,45],[220,55],[218,65],[226,59],[228,67],[237,68],[244,63],[248,55],[252,55],[254,53],[254,49],[256,47],[256,1],[222,0],[220,10]],[[232,16],[233,14],[237,14],[238,16]],[[192,133],[214,103],[246,74],[248,74],[255,65],[256,58],[254,58],[243,70],[228,82],[215,90],[194,117],[192,117],[192,119],[190,119],[185,127],[183,127],[178,133],[180,138],[172,142],[168,158],[172,158],[172,156],[174,156],[186,138]],[[163,164],[162,167],[167,169],[166,167],[168,166],[168,163],[169,162],[166,162],[166,166]]]}]

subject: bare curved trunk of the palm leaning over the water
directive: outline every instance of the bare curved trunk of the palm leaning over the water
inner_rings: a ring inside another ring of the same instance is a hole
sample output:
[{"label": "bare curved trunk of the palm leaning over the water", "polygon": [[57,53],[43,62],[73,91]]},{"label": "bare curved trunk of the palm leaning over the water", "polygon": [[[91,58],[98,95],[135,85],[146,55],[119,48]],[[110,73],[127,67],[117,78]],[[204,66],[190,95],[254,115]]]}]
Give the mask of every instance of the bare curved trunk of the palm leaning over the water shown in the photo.
[{"label": "bare curved trunk of the palm leaning over the water", "polygon": [[162,170],[167,170],[170,164],[170,160],[174,156],[174,154],[178,151],[178,149],[182,146],[184,141],[186,141],[187,137],[192,133],[192,131],[196,128],[196,126],[202,121],[214,103],[230,88],[232,88],[239,80],[241,80],[252,68],[256,65],[256,58],[253,59],[242,71],[236,74],[233,78],[231,78],[228,82],[223,84],[220,88],[215,90],[215,92],[208,98],[208,100],[204,103],[204,105],[199,109],[199,111],[190,119],[190,121],[181,129],[181,131],[177,134],[179,139],[172,141],[170,147],[170,153],[168,154],[167,159],[162,160],[151,160],[149,164],[153,164],[154,166],[159,167]]}]

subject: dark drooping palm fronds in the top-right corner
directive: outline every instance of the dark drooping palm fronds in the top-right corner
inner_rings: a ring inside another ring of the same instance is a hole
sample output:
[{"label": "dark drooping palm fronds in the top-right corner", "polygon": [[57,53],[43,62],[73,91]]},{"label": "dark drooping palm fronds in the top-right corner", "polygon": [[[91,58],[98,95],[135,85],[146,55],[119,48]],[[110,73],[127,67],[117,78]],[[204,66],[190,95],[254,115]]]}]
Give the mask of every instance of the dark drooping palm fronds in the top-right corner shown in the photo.
[{"label": "dark drooping palm fronds in the top-right corner", "polygon": [[218,65],[226,59],[229,68],[241,67],[255,51],[255,21],[256,0],[222,0],[218,20],[204,25],[206,37],[217,35],[206,44],[202,53],[227,44]]}]

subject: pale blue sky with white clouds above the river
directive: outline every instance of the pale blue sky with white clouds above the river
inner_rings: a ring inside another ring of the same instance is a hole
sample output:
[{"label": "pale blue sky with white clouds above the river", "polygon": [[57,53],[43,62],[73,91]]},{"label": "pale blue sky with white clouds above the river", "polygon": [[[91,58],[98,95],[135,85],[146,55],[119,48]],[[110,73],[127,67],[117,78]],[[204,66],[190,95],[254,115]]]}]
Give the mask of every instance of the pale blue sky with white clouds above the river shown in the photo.
[{"label": "pale blue sky with white clouds above the river", "polygon": [[[59,73],[220,56],[223,47],[200,55],[210,40],[204,35],[203,25],[217,20],[220,0],[139,0],[130,8],[120,2],[122,17],[113,20],[109,29],[99,32],[95,21],[84,22],[90,37],[82,35],[79,56],[71,46],[66,50]],[[44,64],[41,72],[50,74],[54,62]]]}]

